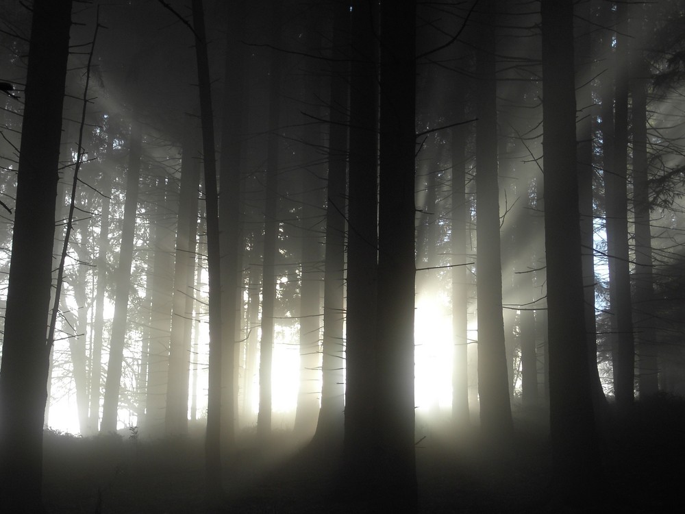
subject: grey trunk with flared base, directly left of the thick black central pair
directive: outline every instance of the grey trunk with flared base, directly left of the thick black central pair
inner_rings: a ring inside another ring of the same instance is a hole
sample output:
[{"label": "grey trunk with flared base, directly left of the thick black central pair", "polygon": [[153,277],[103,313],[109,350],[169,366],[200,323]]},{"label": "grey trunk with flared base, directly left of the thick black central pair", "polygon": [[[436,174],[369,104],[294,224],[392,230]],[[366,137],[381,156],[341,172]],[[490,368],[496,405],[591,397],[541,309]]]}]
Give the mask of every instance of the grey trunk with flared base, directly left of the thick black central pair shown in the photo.
[{"label": "grey trunk with flared base, directly left of the thick black central pair", "polygon": [[343,320],[345,319],[345,185],[347,184],[347,75],[345,62],[349,8],[332,2],[333,53],[328,147],[326,246],[323,281],[323,383],[316,435],[326,445],[343,436]]}]

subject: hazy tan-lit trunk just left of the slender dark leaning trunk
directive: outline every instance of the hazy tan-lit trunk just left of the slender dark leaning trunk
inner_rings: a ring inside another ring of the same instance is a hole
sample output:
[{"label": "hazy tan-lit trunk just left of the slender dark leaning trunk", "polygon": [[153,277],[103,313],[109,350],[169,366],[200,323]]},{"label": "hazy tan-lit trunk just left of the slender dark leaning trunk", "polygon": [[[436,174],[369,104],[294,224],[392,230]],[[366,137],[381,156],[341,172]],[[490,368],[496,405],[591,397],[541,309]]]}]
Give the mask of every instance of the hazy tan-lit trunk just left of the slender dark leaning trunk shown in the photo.
[{"label": "hazy tan-lit trunk just left of the slender dark leaning trunk", "polygon": [[188,123],[184,132],[181,161],[174,269],[171,341],[169,346],[169,385],[166,388],[166,434],[188,433],[188,380],[190,332],[195,292],[195,241],[197,238],[198,186],[200,161],[197,127]]}]

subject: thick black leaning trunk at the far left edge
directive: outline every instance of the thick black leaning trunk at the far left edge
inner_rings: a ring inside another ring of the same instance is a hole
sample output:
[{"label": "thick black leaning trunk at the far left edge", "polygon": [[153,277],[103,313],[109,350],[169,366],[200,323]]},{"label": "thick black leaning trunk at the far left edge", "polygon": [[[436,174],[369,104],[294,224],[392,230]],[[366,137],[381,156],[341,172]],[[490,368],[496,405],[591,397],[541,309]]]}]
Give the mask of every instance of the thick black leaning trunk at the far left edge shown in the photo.
[{"label": "thick black leaning trunk at the far left edge", "polygon": [[71,0],[33,3],[0,367],[0,504],[44,511],[42,430],[64,79]]}]

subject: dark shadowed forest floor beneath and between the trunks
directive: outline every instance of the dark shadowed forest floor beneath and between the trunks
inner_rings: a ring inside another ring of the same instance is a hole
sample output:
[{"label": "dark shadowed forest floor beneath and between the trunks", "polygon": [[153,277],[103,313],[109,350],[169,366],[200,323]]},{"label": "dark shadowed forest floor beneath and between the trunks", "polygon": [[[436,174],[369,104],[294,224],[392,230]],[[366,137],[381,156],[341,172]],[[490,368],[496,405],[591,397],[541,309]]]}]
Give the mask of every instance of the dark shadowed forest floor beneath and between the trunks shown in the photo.
[{"label": "dark shadowed forest floor beneath and between the trunks", "polygon": [[[551,462],[543,413],[516,412],[516,435],[497,451],[477,430],[446,437],[426,431],[416,446],[421,513],[551,513]],[[46,432],[44,500],[49,513],[175,514],[208,512],[203,500],[203,443],[82,438]],[[244,436],[248,441],[253,435]],[[597,503],[577,512],[682,512],[685,496],[685,400],[636,404],[603,429]],[[296,450],[286,433],[269,448],[247,445],[225,468],[227,513],[375,513],[341,493],[336,459]],[[573,512],[563,510],[562,512]]]}]

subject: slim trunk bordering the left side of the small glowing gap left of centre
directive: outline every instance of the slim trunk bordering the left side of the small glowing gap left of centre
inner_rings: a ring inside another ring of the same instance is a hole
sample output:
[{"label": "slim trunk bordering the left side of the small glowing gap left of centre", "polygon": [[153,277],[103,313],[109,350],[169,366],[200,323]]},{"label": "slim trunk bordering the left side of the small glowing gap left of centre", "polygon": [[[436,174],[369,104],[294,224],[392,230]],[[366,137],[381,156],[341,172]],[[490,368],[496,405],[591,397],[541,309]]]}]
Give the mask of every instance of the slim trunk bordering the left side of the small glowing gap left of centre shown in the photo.
[{"label": "slim trunk bordering the left side of the small glowing gap left of centre", "polygon": [[280,3],[271,3],[271,50],[269,62],[269,140],[266,149],[266,197],[264,199],[264,260],[262,265],[262,339],[259,366],[259,414],[257,435],[266,441],[271,435],[271,361],[273,358],[273,316],[276,298],[275,259],[278,242],[278,166],[281,112],[281,60],[276,49],[281,40]]}]

